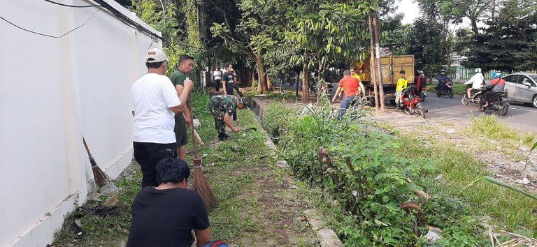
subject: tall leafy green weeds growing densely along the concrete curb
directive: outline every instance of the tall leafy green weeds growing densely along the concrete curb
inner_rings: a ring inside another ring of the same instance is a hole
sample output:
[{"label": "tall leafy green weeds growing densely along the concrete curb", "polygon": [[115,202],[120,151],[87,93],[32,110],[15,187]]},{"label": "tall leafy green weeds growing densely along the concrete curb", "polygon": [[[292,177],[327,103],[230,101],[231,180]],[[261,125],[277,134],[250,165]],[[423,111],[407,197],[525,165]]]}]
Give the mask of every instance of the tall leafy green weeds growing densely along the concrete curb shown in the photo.
[{"label": "tall leafy green weeds growing densely along the concrete curb", "polygon": [[[265,117],[285,119],[296,114],[276,112],[278,108],[268,107],[274,112],[267,111],[270,114]],[[362,110],[350,110],[342,121],[336,120],[328,104],[310,108],[308,113],[278,126],[280,147],[296,177],[331,191],[347,212],[338,229],[345,245],[395,246],[417,241],[412,229],[415,214],[399,205],[413,197],[416,185],[407,178],[420,177],[434,167],[387,155],[399,144],[389,135],[366,131],[360,120],[365,115]],[[331,165],[318,160],[317,151],[322,148],[329,151]]]}]

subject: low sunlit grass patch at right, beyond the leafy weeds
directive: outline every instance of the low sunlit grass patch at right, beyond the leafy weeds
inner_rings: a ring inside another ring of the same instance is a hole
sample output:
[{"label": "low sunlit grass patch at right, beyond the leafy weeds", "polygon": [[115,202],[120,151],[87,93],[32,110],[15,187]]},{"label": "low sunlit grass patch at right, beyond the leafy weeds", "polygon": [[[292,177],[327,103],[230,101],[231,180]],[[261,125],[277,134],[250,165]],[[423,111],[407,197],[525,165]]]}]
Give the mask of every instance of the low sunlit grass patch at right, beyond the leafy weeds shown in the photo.
[{"label": "low sunlit grass patch at right, beyond the leafy weeds", "polygon": [[443,179],[436,180],[436,174],[424,179],[422,183],[429,188],[428,193],[460,197],[470,202],[475,216],[491,216],[492,223],[503,229],[513,231],[526,227],[529,230],[537,230],[535,200],[486,181],[479,181],[461,192],[464,186],[475,179],[489,175],[485,164],[471,154],[440,144],[425,147],[422,141],[415,137],[400,138],[401,142],[413,145],[396,149],[399,155],[412,160],[421,160],[424,157],[438,160],[436,169],[438,174],[443,175]]}]

